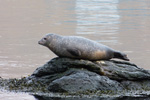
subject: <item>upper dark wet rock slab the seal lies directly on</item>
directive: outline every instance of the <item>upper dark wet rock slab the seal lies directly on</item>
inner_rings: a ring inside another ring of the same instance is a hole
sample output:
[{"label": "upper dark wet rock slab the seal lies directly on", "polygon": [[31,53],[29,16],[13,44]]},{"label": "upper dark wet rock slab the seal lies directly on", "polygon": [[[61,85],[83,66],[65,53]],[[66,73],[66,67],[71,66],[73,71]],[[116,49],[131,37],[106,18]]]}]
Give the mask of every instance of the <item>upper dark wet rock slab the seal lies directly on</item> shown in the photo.
[{"label": "upper dark wet rock slab the seal lies directly on", "polygon": [[92,62],[88,60],[77,60],[69,58],[54,58],[45,65],[37,68],[33,72],[32,76],[42,78],[48,75],[59,74],[59,77],[61,73],[71,68],[86,69],[90,72],[107,76],[114,80],[150,79],[150,73],[148,70],[139,68],[135,64],[129,62],[114,60]]}]

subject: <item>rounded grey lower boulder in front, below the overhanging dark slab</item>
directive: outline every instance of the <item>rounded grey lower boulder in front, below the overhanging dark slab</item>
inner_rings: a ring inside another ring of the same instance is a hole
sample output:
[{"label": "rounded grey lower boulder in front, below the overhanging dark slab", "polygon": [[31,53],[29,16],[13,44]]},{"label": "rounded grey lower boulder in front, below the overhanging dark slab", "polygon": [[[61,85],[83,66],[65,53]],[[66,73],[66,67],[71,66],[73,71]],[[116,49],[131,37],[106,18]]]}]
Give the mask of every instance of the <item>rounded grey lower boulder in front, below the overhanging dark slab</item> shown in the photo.
[{"label": "rounded grey lower boulder in front, below the overhanging dark slab", "polygon": [[106,76],[100,76],[87,70],[72,69],[70,75],[52,81],[48,90],[53,92],[80,92],[80,91],[117,91],[123,90],[117,81]]}]

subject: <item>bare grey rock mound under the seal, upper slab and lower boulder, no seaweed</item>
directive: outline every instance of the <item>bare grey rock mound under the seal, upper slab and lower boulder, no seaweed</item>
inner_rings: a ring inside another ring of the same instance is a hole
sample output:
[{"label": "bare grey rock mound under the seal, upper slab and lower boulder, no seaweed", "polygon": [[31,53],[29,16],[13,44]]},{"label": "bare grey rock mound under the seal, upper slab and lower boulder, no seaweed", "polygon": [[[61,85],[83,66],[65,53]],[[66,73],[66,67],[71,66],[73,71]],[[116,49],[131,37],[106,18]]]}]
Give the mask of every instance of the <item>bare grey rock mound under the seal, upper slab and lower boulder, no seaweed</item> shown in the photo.
[{"label": "bare grey rock mound under the seal, upper slab and lower boulder, no seaweed", "polygon": [[149,80],[150,73],[128,62],[54,58],[37,68],[28,79],[47,84],[51,92],[114,92],[125,88],[126,83],[121,81]]}]

